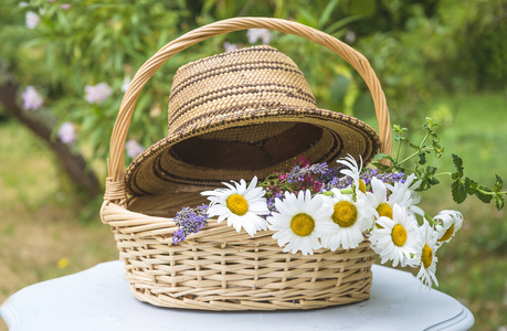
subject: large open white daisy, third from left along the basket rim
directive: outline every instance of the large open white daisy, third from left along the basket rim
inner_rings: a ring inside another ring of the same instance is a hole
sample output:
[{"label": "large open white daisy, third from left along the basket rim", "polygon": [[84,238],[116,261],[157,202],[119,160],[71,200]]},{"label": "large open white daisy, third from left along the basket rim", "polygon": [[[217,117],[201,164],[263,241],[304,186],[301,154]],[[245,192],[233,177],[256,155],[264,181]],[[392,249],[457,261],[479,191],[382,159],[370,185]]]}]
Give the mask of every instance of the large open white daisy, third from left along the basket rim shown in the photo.
[{"label": "large open white daisy, third from left along the basket rim", "polygon": [[335,252],[340,246],[345,249],[356,248],[365,239],[362,232],[373,223],[374,210],[365,197],[353,201],[351,195],[331,190],[335,196],[321,196],[324,209],[332,210],[330,220],[332,231],[320,237],[323,246]]}]

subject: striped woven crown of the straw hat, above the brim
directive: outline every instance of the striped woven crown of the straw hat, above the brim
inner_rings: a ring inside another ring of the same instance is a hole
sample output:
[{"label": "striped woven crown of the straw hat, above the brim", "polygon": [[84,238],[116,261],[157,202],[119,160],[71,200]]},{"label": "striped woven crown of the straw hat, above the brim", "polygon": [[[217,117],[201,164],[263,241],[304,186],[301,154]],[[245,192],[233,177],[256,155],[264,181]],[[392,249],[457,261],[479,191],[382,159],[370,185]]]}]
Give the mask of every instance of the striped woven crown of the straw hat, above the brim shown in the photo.
[{"label": "striped woven crown of the straw hat, above the brim", "polygon": [[267,45],[241,49],[178,70],[169,96],[169,135],[250,109],[287,107],[317,107],[294,61]]}]

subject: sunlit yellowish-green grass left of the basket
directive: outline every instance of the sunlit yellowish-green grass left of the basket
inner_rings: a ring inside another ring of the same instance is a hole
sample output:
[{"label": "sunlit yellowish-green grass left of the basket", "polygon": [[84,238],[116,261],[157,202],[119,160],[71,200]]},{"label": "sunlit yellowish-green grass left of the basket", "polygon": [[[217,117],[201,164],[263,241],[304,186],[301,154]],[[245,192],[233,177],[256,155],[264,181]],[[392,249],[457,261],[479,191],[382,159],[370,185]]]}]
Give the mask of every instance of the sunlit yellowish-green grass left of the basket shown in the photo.
[{"label": "sunlit yellowish-green grass left of the basket", "polygon": [[117,258],[98,206],[91,205],[94,220],[80,220],[84,206],[62,190],[62,172],[43,142],[17,122],[2,122],[0,153],[0,301],[31,284]]}]

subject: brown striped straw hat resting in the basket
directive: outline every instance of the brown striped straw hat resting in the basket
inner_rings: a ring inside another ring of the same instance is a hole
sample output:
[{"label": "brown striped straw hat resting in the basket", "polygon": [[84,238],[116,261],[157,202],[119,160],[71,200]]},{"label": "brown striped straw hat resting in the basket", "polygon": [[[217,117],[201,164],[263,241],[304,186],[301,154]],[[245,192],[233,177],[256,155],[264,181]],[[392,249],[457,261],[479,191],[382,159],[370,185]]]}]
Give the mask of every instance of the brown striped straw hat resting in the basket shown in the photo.
[{"label": "brown striped straw hat resting in the basket", "polygon": [[262,179],[286,169],[299,154],[310,162],[334,162],[350,153],[368,162],[379,148],[376,131],[365,122],[318,108],[296,64],[266,45],[180,67],[168,111],[167,138],[126,171],[133,195]]}]

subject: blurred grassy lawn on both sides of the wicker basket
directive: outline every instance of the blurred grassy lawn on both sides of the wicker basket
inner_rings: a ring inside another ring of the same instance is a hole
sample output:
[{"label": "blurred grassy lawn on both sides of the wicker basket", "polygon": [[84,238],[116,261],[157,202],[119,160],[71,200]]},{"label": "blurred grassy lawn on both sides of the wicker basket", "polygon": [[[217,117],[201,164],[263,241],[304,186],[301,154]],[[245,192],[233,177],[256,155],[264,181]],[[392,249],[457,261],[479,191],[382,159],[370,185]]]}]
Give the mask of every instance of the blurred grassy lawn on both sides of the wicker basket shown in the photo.
[{"label": "blurred grassy lawn on both sides of the wicker basket", "polygon": [[[437,162],[441,170],[453,170],[454,152],[463,158],[466,175],[492,185],[498,173],[507,182],[504,95],[439,98],[424,110],[442,122],[447,153]],[[3,122],[0,154],[0,301],[28,285],[117,258],[113,235],[98,220],[98,205],[85,205],[62,189],[68,185],[43,142],[18,124]],[[506,212],[473,197],[457,205],[450,192],[444,180],[421,203],[430,214],[453,209],[465,215],[463,228],[439,250],[439,289],[472,310],[475,330],[507,327]],[[62,258],[67,266],[59,266]]]}]

